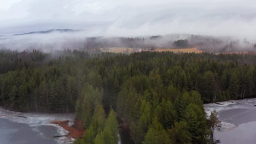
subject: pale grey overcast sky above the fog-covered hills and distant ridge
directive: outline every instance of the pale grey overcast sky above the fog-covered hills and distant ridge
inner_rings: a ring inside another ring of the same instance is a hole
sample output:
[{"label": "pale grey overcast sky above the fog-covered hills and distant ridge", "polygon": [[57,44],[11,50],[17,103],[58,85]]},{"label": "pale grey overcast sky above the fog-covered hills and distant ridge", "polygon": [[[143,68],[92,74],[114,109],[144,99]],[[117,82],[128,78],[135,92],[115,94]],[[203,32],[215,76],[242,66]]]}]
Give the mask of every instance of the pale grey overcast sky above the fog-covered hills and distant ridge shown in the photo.
[{"label": "pale grey overcast sky above the fog-covered hills and distant ridge", "polygon": [[95,35],[172,33],[256,39],[255,0],[0,0],[0,34],[87,29]]}]

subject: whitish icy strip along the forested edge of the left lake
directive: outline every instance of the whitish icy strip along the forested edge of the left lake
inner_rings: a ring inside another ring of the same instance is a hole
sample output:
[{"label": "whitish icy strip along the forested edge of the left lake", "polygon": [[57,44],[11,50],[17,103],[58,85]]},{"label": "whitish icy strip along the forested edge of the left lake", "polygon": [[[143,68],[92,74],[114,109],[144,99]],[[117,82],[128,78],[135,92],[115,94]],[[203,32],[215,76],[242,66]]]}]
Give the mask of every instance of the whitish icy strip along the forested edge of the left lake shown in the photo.
[{"label": "whitish icy strip along the forested edge of the left lake", "polygon": [[[74,121],[74,114],[71,113],[37,113],[37,112],[14,112],[3,109],[0,107],[0,118],[8,119],[10,122],[27,124],[32,130],[37,131],[40,135],[44,136],[44,133],[48,133],[47,130],[42,129],[42,126],[52,126],[56,128],[57,134],[55,135],[66,135],[68,131],[63,129],[57,124],[50,123],[51,121]],[[70,123],[72,124],[72,123]],[[46,132],[45,132],[46,131]],[[50,132],[49,132],[50,133]],[[55,136],[53,135],[53,136]],[[72,143],[74,139],[69,137],[54,138],[58,143]]]}]

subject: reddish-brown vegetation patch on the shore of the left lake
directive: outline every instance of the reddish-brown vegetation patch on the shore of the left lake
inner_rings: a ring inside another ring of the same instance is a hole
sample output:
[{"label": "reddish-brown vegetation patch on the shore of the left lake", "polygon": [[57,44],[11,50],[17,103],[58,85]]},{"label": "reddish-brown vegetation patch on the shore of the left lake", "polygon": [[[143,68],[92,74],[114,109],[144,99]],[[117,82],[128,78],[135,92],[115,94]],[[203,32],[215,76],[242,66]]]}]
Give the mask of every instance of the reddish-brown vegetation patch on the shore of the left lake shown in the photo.
[{"label": "reddish-brown vegetation patch on the shore of the left lake", "polygon": [[74,124],[71,127],[68,126],[68,122],[69,121],[52,121],[51,123],[58,124],[63,129],[69,131],[68,136],[73,137],[74,139],[81,138],[85,132],[82,122],[75,119]]}]

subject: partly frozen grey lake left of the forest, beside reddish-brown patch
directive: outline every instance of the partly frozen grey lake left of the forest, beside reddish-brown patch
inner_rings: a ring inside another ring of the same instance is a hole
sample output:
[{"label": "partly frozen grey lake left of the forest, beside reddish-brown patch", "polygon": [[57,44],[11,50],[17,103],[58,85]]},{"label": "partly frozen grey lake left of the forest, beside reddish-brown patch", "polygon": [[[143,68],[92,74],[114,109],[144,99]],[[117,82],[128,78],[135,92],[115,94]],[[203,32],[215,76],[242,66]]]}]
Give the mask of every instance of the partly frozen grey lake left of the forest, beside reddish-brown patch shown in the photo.
[{"label": "partly frozen grey lake left of the forest, beside reddish-brown patch", "polygon": [[51,121],[74,121],[70,113],[21,113],[0,108],[0,144],[72,143],[68,131]]}]

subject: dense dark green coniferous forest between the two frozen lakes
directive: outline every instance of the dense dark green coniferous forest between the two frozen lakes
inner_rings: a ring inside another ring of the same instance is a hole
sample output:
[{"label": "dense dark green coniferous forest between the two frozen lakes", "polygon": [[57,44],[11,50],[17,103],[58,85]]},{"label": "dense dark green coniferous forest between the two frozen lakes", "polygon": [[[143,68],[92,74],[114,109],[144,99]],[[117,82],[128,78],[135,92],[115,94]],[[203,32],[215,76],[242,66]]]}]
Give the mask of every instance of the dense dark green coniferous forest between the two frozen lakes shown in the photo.
[{"label": "dense dark green coniferous forest between the two frozen lakes", "polygon": [[117,118],[135,143],[211,143],[203,103],[255,96],[250,54],[0,51],[0,104],[75,112],[86,129],[75,143],[117,143]]}]

